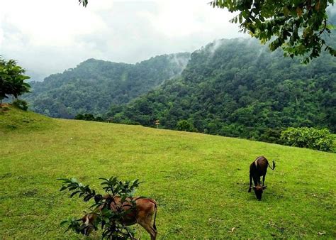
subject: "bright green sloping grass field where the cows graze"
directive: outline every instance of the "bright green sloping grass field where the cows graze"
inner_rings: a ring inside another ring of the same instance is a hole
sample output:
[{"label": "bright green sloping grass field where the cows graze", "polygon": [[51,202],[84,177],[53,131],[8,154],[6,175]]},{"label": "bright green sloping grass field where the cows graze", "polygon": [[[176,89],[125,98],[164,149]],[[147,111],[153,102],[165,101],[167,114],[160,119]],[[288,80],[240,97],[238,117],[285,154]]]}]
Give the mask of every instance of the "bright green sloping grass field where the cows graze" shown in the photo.
[{"label": "bright green sloping grass field where the cows graze", "polygon": [[[98,178],[111,175],[144,181],[138,195],[158,202],[159,239],[336,238],[334,153],[13,108],[0,113],[0,137],[2,239],[82,237],[60,222],[89,204],[59,192],[56,179],[100,192]],[[276,169],[258,202],[247,193],[248,172],[261,155]]]}]

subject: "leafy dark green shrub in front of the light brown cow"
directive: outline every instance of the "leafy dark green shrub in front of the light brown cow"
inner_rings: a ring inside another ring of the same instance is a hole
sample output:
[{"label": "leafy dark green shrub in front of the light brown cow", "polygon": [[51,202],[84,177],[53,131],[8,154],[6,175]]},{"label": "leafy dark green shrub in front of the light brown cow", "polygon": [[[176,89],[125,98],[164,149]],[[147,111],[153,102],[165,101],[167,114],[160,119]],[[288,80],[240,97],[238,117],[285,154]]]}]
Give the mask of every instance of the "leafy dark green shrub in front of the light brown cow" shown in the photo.
[{"label": "leafy dark green shrub in front of the light brown cow", "polygon": [[[75,178],[58,179],[63,181],[60,191],[69,190],[69,192],[72,192],[70,197],[79,195],[79,197],[83,197],[84,202],[88,202],[94,198],[94,204],[90,207],[90,209],[94,207],[94,210],[89,214],[96,216],[96,220],[89,225],[85,225],[82,219],[77,220],[69,217],[67,220],[61,222],[61,226],[68,224],[66,231],[72,229],[77,234],[86,234],[89,228],[98,230],[100,227],[103,230],[101,234],[102,239],[134,239],[135,229],[126,227],[123,224],[123,219],[135,209],[133,195],[140,184],[139,180],[124,182],[113,176],[109,179],[99,179],[103,180],[101,185],[103,185],[103,190],[105,190],[107,195],[96,194],[96,191],[91,190],[89,185],[83,185]],[[117,199],[120,202],[117,202]],[[111,205],[115,209],[111,209]],[[125,205],[129,206],[129,208],[126,209],[123,207]]]}]

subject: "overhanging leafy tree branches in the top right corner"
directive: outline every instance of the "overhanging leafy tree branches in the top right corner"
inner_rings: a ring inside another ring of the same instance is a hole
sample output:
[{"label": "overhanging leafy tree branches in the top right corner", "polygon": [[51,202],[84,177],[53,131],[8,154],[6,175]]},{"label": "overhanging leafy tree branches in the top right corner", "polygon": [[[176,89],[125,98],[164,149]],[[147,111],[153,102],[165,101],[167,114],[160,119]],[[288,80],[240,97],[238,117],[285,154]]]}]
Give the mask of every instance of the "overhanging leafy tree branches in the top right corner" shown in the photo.
[{"label": "overhanging leafy tree branches in the top right corner", "polygon": [[325,41],[325,34],[331,33],[326,9],[334,4],[333,0],[215,0],[210,4],[230,12],[238,11],[231,22],[239,22],[242,31],[262,43],[271,41],[269,49],[272,51],[281,47],[291,58],[304,55],[305,63],[320,56],[321,50],[336,56],[335,48]]}]

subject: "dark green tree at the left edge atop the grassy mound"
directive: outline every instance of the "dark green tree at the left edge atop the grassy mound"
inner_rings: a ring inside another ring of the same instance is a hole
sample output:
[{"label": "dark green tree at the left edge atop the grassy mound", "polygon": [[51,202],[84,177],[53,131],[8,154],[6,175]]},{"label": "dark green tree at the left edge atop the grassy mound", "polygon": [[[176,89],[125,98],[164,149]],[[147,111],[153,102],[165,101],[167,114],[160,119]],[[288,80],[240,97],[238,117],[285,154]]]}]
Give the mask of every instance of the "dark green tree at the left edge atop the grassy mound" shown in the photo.
[{"label": "dark green tree at the left edge atop the grassy mound", "polygon": [[25,70],[16,65],[15,60],[3,60],[0,58],[0,103],[8,95],[13,95],[15,100],[18,96],[29,92],[30,85],[25,80],[30,77],[23,75]]}]

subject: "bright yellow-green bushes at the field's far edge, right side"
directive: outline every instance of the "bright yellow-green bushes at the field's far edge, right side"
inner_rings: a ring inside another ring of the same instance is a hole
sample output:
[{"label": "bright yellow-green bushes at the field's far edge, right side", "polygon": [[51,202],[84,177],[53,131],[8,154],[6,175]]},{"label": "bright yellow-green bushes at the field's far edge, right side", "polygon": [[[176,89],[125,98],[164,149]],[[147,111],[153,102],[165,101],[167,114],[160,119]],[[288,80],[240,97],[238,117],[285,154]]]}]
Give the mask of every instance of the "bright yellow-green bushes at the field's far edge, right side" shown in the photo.
[{"label": "bright yellow-green bushes at the field's far edge, right side", "polygon": [[281,132],[285,145],[299,148],[311,148],[320,151],[332,151],[334,137],[328,129],[288,128]]}]

